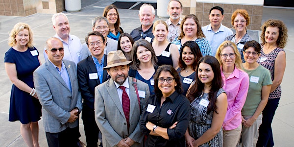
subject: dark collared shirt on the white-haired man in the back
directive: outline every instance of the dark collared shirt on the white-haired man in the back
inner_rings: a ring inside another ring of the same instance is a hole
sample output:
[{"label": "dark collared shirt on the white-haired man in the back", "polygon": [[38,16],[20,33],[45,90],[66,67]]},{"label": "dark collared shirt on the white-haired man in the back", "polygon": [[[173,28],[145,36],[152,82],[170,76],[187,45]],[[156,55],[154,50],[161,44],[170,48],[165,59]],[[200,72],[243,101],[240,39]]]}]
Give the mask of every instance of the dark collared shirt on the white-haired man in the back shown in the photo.
[{"label": "dark collared shirt on the white-haired man in the back", "polygon": [[137,27],[135,29],[133,29],[131,31],[131,36],[133,37],[134,41],[137,41],[139,39],[146,39],[146,37],[150,37],[151,39],[151,43],[152,40],[154,38],[153,33],[152,33],[152,28],[153,28],[153,24],[150,26],[149,29],[147,29],[145,32],[143,32],[142,30],[142,25],[140,27]]}]

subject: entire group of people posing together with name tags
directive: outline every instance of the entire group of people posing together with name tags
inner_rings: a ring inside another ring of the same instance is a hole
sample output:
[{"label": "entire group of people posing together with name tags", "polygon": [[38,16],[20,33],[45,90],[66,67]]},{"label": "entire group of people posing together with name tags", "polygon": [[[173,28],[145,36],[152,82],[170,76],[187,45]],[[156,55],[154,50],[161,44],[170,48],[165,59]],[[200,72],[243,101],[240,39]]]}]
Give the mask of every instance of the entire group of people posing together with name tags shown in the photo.
[{"label": "entire group of people posing together with name tags", "polygon": [[253,147],[257,136],[257,147],[273,147],[286,25],[266,21],[258,43],[244,9],[232,14],[235,34],[221,24],[219,6],[203,27],[194,14],[181,19],[179,0],[168,13],[153,23],[155,9],[143,4],[141,26],[128,34],[108,5],[84,44],[67,16],[54,14],[44,64],[30,26],[16,24],[4,63],[13,83],[9,121],[21,122],[26,145],[39,147],[42,116],[49,147],[81,147],[82,113],[87,147]]}]

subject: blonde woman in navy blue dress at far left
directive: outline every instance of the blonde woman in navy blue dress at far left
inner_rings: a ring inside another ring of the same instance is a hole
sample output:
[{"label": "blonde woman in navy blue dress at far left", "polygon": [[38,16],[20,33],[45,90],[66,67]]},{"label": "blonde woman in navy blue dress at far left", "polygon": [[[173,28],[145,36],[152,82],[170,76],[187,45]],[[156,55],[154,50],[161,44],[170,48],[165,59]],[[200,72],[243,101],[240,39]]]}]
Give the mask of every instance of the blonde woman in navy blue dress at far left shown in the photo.
[{"label": "blonde woman in navy blue dress at far left", "polygon": [[5,53],[5,70],[12,82],[9,121],[21,122],[21,134],[28,147],[39,147],[41,104],[33,82],[33,72],[41,65],[39,51],[33,46],[29,25],[18,23],[10,31],[10,49]]}]

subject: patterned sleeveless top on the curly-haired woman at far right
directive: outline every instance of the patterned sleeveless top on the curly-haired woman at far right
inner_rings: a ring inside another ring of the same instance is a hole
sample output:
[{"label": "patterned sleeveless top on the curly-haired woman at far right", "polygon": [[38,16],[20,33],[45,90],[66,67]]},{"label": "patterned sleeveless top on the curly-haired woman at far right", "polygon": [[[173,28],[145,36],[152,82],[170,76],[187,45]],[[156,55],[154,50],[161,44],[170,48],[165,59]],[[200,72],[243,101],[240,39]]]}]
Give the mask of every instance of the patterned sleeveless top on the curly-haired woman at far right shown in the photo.
[{"label": "patterned sleeveless top on the curly-haired woman at far right", "polygon": [[[263,51],[263,45],[261,45],[261,56],[257,60],[257,63],[262,65],[263,67],[267,68],[270,71],[271,74],[271,80],[274,78],[274,63],[275,59],[278,56],[278,53],[284,51],[284,49],[276,48],[273,49],[270,53],[265,54]],[[266,58],[266,59],[265,59]],[[282,90],[281,85],[279,85],[273,92],[270,93],[269,99],[273,98],[281,98]]]}]

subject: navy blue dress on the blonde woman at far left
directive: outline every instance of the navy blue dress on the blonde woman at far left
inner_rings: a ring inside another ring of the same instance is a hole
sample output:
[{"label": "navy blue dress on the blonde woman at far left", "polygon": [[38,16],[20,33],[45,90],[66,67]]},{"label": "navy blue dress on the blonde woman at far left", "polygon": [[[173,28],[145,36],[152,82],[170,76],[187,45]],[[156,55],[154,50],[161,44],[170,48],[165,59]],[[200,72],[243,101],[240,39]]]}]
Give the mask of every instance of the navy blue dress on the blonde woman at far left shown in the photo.
[{"label": "navy blue dress on the blonde woman at far left", "polygon": [[[37,55],[34,54],[37,51]],[[34,55],[34,56],[33,56]],[[4,62],[14,63],[17,77],[29,87],[34,88],[33,72],[40,66],[39,52],[33,47],[24,52],[10,48],[4,57]],[[41,104],[37,98],[29,95],[12,84],[10,95],[9,121],[20,121],[23,124],[37,122],[42,116]]]}]

